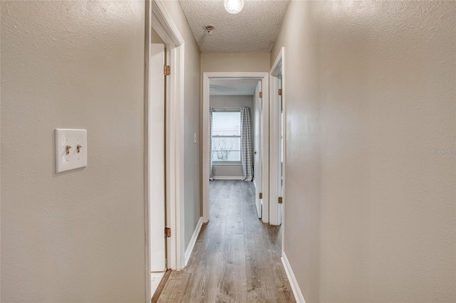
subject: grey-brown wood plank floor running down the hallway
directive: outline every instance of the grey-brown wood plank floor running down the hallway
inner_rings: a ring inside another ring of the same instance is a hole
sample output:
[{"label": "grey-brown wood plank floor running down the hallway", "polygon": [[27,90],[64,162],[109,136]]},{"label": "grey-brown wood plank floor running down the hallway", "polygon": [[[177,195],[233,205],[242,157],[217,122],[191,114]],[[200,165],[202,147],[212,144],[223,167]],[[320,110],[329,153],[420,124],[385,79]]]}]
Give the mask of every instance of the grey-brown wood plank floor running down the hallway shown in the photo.
[{"label": "grey-brown wood plank floor running down the hallway", "polygon": [[280,260],[281,228],[258,219],[252,182],[209,188],[209,223],[157,302],[296,302]]}]

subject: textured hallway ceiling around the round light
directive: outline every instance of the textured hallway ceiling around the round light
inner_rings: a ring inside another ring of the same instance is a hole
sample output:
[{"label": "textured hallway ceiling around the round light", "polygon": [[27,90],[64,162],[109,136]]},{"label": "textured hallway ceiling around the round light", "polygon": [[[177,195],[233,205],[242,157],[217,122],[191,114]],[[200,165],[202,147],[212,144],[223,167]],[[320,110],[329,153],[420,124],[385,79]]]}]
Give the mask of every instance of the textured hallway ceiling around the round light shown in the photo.
[{"label": "textured hallway ceiling around the round light", "polygon": [[[245,0],[239,14],[225,11],[222,0],[180,0],[202,53],[269,52],[289,0]],[[212,36],[203,29],[215,26]]]}]

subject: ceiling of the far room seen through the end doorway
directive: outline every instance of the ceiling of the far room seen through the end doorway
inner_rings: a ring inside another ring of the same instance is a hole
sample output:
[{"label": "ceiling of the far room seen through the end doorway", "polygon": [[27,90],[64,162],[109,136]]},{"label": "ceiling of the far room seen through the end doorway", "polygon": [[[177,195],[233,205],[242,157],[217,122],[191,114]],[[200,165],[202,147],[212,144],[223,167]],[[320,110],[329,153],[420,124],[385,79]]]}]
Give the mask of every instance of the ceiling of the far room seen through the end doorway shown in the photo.
[{"label": "ceiling of the far room seen through the end doorway", "polygon": [[258,79],[211,79],[209,95],[253,96]]}]

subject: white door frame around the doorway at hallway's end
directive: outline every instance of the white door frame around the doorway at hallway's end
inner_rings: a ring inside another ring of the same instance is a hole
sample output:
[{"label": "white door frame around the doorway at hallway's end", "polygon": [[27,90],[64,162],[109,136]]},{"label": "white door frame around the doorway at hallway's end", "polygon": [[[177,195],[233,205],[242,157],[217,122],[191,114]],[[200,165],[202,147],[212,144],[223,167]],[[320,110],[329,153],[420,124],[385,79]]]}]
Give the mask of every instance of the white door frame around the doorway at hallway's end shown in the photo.
[{"label": "white door frame around the doorway at hallway's end", "polygon": [[[269,73],[203,73],[202,85],[202,218],[209,222],[209,80],[210,79],[258,79],[261,80],[263,131],[261,141],[263,188],[269,187]],[[269,191],[263,190],[262,219],[269,223]]]}]

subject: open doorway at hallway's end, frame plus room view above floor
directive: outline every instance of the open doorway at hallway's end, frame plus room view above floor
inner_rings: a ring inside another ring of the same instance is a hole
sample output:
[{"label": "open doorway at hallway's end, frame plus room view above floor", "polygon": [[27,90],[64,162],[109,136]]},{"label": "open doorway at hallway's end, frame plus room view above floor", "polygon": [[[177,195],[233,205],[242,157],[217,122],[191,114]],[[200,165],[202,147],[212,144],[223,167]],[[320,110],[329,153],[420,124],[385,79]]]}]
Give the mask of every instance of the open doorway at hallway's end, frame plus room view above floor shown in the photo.
[{"label": "open doorway at hallway's end, frame plus room view above floor", "polygon": [[231,179],[252,181],[257,215],[268,223],[269,74],[204,73],[202,118],[204,222],[209,180]]}]

